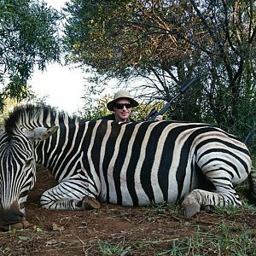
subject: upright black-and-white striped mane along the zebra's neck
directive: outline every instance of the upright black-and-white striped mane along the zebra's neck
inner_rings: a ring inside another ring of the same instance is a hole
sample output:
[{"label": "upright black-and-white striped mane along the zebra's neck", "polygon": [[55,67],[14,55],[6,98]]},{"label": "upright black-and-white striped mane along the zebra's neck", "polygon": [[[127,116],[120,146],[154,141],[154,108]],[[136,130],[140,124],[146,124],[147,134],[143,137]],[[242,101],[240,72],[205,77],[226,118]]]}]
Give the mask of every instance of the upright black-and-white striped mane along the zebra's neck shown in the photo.
[{"label": "upright black-and-white striped mane along the zebra's neck", "polygon": [[[59,111],[58,108],[51,107],[44,104],[26,104],[16,107],[13,112],[9,114],[9,118],[5,119],[4,130],[9,137],[11,137],[17,129],[22,126],[35,127],[35,124],[45,125],[50,122],[64,122],[64,119],[69,121],[79,121],[75,115],[70,116],[67,112]],[[33,125],[32,125],[33,124]],[[50,125],[50,124],[48,124]]]}]

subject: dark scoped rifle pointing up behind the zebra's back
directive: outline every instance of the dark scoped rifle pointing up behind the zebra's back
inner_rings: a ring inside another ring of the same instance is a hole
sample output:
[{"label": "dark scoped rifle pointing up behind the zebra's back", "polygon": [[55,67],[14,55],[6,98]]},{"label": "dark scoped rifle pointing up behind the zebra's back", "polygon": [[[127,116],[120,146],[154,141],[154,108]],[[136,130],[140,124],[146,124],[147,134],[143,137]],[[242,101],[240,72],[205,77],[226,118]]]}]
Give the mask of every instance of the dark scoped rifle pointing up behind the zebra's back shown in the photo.
[{"label": "dark scoped rifle pointing up behind the zebra's back", "polygon": [[177,99],[178,96],[182,95],[186,90],[189,89],[190,85],[193,84],[195,82],[195,79],[190,79],[188,82],[184,83],[181,88],[179,89],[177,96],[174,96],[174,98],[172,98],[172,100],[170,102],[167,102],[165,107],[160,109],[159,112],[157,112],[156,109],[152,109],[150,111],[150,113],[148,113],[148,115],[143,119],[144,121],[154,121],[154,119],[158,116],[158,115],[162,115],[164,113],[166,113],[166,111],[171,108],[171,104],[173,101],[175,101]]}]

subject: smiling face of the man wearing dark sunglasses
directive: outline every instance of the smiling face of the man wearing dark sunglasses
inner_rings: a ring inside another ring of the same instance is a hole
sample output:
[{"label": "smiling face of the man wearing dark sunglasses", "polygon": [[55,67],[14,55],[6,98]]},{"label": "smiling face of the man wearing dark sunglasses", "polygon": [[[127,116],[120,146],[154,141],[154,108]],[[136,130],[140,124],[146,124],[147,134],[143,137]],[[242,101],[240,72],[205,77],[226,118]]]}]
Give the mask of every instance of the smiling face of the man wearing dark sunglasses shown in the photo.
[{"label": "smiling face of the man wearing dark sunglasses", "polygon": [[131,115],[131,102],[125,98],[119,99],[115,103],[113,111],[118,121],[125,122]]}]

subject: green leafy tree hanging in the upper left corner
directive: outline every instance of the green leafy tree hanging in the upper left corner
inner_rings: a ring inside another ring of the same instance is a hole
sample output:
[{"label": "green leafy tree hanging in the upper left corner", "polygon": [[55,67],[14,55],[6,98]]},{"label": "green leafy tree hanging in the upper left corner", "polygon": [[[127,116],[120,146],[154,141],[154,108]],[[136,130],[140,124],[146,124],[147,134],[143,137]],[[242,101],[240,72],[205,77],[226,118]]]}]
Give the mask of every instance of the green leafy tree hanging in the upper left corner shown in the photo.
[{"label": "green leafy tree hanging in the upper left corner", "polygon": [[31,96],[27,80],[38,66],[58,61],[61,15],[36,0],[0,0],[0,109],[6,98]]}]

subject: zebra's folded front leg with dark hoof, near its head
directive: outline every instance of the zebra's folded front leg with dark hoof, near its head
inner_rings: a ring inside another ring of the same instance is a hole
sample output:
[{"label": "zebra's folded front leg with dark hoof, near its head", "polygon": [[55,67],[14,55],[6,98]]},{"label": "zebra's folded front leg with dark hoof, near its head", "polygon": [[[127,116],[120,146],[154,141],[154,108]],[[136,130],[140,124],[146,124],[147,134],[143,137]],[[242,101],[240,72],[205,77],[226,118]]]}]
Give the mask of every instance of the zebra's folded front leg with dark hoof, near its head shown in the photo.
[{"label": "zebra's folded front leg with dark hoof, near its head", "polygon": [[41,206],[54,210],[90,210],[100,207],[96,188],[77,174],[61,181],[41,196]]}]

